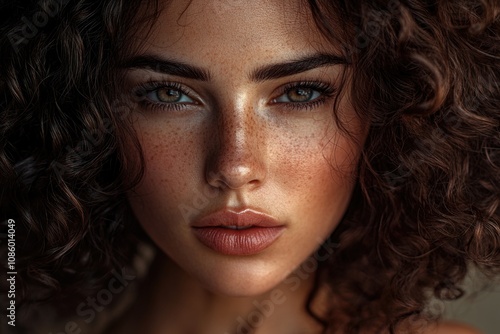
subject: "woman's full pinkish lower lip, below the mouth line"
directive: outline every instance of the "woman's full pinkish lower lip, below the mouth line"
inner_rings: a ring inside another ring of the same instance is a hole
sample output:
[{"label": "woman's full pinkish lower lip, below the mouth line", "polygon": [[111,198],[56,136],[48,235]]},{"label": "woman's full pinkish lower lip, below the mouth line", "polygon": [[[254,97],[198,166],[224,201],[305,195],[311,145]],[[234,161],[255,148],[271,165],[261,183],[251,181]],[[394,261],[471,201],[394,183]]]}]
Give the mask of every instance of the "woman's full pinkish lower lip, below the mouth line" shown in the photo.
[{"label": "woman's full pinkish lower lip, below the mouth line", "polygon": [[224,227],[195,227],[202,244],[225,255],[252,255],[271,246],[285,230],[284,226],[250,227],[233,230]]}]

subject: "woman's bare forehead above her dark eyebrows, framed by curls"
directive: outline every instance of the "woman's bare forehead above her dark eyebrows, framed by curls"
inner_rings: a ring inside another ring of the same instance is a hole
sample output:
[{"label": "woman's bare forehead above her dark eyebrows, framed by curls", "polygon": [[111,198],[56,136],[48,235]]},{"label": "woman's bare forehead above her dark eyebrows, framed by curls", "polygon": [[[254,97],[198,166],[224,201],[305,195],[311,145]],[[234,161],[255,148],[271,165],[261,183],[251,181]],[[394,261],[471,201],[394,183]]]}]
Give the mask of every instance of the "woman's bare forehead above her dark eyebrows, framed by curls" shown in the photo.
[{"label": "woman's bare forehead above her dark eyebrows, framed by curls", "polygon": [[269,63],[337,49],[320,33],[304,0],[171,0],[151,30],[138,34],[142,52],[167,53],[200,66]]}]

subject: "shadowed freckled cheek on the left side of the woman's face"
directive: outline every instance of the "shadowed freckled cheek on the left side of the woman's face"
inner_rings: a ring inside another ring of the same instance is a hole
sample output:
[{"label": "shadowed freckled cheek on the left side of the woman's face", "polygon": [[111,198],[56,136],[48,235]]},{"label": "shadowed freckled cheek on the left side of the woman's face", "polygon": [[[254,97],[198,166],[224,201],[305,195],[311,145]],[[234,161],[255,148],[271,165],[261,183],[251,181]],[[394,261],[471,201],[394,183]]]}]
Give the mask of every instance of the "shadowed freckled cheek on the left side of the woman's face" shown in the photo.
[{"label": "shadowed freckled cheek on the left side of the woman's face", "polygon": [[[141,126],[142,125],[142,126]],[[199,184],[200,151],[194,133],[163,124],[137,123],[144,177],[129,193],[132,210],[149,236],[169,256],[190,240],[182,205],[193,206]],[[175,228],[174,228],[175,227]]]}]

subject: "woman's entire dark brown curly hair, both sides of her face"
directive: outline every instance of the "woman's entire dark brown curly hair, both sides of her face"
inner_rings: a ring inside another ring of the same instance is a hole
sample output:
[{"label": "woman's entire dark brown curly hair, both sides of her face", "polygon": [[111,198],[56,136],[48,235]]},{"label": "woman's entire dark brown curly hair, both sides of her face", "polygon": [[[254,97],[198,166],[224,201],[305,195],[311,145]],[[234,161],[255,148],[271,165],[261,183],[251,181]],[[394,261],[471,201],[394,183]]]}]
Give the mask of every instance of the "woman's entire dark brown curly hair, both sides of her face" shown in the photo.
[{"label": "woman's entire dark brown curly hair, both sides of her face", "polygon": [[[99,287],[141,239],[124,193],[142,166],[124,140],[141,152],[114,83],[131,27],[154,16],[134,21],[139,1],[66,2],[36,33],[19,18],[56,0],[0,7],[0,220],[17,221],[31,302]],[[339,248],[319,268],[335,296],[322,321],[395,332],[432,319],[431,298],[459,298],[472,266],[500,274],[500,2],[308,4],[371,124]]]}]

